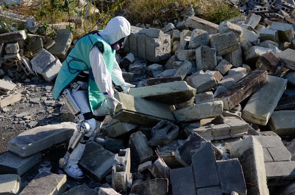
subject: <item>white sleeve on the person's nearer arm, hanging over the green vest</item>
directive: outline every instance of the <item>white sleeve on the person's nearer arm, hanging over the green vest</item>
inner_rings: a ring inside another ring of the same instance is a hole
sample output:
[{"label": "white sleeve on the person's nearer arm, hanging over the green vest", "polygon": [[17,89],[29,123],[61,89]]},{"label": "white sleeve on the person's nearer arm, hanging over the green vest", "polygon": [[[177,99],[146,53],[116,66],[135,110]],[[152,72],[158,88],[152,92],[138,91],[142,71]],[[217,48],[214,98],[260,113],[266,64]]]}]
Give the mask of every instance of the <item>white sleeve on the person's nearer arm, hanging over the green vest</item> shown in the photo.
[{"label": "white sleeve on the person's nearer arm, hanging over the green vest", "polygon": [[107,70],[102,53],[96,46],[91,49],[89,60],[97,87],[103,92],[106,98],[113,96],[114,90],[112,88],[111,73]]}]

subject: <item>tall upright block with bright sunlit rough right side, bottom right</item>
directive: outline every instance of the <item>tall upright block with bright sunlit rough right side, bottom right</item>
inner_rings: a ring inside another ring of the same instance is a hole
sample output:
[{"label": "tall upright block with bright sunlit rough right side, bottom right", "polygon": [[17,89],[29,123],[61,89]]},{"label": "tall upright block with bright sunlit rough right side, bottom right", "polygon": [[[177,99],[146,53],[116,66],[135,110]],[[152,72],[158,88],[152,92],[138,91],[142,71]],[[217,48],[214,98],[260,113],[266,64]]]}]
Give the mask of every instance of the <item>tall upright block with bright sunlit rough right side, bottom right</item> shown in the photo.
[{"label": "tall upright block with bright sunlit rough right side, bottom right", "polygon": [[257,139],[249,136],[236,143],[230,149],[231,158],[238,158],[247,185],[247,194],[255,194],[257,190],[263,195],[269,195],[266,184],[266,168],[263,156],[263,147]]}]

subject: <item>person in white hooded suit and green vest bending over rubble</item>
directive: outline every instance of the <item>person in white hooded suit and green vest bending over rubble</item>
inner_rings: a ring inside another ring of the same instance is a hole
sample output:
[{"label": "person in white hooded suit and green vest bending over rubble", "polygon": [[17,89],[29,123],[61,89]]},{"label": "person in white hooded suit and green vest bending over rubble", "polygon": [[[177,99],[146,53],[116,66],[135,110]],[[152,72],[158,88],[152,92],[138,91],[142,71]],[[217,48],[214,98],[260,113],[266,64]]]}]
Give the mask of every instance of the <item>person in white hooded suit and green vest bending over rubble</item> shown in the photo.
[{"label": "person in white hooded suit and green vest bending over rubble", "polygon": [[[115,55],[121,49],[124,38],[130,34],[130,23],[124,17],[111,19],[100,31],[93,31],[80,38],[69,52],[56,78],[53,97],[58,99],[64,89],[77,103],[84,122],[90,126],[89,132],[71,151],[63,170],[76,179],[84,178],[78,167],[85,150],[87,139],[101,125],[107,114],[114,114],[121,104],[114,97],[112,81],[121,86],[125,93],[135,85],[124,81]],[[73,136],[70,139],[70,143]],[[59,162],[60,164],[60,162]]]}]

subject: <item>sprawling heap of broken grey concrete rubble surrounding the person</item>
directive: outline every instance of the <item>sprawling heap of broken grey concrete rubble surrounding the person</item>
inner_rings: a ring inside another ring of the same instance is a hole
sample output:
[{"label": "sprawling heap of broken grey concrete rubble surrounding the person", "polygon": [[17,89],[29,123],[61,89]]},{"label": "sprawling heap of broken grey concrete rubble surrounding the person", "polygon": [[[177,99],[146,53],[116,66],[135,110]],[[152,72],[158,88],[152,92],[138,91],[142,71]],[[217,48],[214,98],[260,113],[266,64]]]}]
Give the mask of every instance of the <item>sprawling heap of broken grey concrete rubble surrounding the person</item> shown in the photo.
[{"label": "sprawling heap of broken grey concrete rubble surrounding the person", "polygon": [[[288,14],[295,2],[248,0],[240,8],[251,13],[219,25],[193,15],[184,18],[184,28],[132,26],[125,56],[117,57],[136,87],[124,94],[114,86],[122,105],[79,161],[90,182],[71,185],[65,174],[40,171],[22,184],[46,150],[75,132],[75,119],[60,106],[61,123],[9,141],[0,156],[0,194],[295,194],[295,149],[282,140],[295,135],[295,21]],[[34,33],[38,24],[25,22]],[[25,30],[0,34],[0,67],[52,83],[72,34],[59,29],[55,40],[34,40],[39,44],[29,60],[21,50]],[[1,108],[22,98],[4,78]]]}]

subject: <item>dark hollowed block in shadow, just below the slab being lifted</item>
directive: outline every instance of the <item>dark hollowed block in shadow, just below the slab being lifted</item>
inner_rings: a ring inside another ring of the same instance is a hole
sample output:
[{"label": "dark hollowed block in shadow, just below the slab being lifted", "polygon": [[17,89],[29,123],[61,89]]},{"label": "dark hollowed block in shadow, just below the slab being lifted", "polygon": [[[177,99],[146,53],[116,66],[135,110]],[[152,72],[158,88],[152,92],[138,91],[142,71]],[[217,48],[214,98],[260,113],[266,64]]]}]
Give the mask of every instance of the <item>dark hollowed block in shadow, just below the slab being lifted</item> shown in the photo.
[{"label": "dark hollowed block in shadow, just below the slab being lifted", "polygon": [[172,122],[161,121],[151,129],[152,137],[148,141],[149,146],[168,145],[179,133],[179,127]]}]

